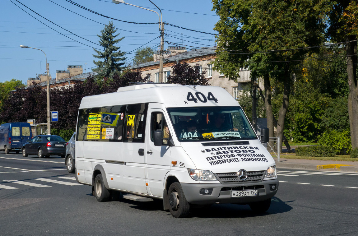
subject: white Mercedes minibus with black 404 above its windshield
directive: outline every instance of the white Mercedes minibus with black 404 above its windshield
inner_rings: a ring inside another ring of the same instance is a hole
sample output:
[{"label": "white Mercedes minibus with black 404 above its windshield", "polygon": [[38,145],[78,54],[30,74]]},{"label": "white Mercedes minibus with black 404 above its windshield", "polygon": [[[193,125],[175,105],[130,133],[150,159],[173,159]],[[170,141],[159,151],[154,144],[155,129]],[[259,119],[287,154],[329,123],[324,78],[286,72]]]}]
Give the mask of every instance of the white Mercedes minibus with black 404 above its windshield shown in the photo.
[{"label": "white Mercedes minibus with black 404 above its windshield", "polygon": [[221,87],[135,84],[82,98],[76,179],[97,201],[163,199],[178,218],[216,203],[265,212],[279,181],[261,141]]}]

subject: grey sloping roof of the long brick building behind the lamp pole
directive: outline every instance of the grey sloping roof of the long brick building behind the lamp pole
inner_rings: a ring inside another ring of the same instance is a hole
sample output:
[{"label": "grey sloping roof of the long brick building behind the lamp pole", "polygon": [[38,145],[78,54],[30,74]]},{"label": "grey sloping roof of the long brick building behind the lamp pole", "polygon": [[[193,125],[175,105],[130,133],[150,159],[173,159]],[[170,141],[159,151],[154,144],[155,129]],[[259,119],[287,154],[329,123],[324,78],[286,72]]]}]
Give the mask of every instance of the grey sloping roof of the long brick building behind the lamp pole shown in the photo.
[{"label": "grey sloping roof of the long brick building behind the lamp pole", "polygon": [[[164,58],[164,62],[174,62],[174,61],[178,61],[178,60],[183,60],[183,59],[189,59],[189,58],[194,58],[194,57],[201,57],[201,56],[206,56],[209,54],[215,54],[215,50],[216,50],[216,46],[213,47],[203,47],[203,48],[194,48],[188,52],[183,52],[183,53],[179,53],[176,54],[174,56],[171,57],[167,57]],[[146,63],[142,63],[139,65],[135,65],[135,66],[131,66],[129,67],[129,69],[135,69],[135,68],[141,68],[141,67],[146,67],[146,66],[153,66],[159,64],[159,61],[152,61],[152,62],[146,62]]]}]

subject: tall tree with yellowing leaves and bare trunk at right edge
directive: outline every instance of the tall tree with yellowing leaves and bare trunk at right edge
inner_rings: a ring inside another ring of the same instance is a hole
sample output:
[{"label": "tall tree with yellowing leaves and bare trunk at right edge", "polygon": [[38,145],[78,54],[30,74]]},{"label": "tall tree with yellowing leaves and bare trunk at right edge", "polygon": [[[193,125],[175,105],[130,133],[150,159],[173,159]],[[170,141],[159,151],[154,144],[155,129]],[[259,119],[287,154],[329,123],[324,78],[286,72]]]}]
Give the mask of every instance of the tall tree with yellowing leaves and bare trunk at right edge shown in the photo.
[{"label": "tall tree with yellowing leaves and bare trunk at right edge", "polygon": [[329,14],[328,37],[333,42],[347,42],[348,114],[352,149],[358,148],[357,39],[358,1],[337,0]]}]

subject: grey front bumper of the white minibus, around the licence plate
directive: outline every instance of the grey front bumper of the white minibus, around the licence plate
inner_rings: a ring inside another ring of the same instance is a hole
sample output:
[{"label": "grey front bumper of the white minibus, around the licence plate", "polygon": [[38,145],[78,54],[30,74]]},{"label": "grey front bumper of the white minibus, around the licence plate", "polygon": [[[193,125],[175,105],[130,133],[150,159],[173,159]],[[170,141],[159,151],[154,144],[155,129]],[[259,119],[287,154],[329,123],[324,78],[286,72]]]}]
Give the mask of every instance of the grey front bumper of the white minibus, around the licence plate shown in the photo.
[{"label": "grey front bumper of the white minibus, around the licence plate", "polygon": [[[270,190],[270,185],[276,184],[275,190]],[[246,204],[250,202],[260,202],[269,199],[277,193],[279,180],[263,180],[262,182],[245,184],[189,184],[181,183],[182,189],[187,201],[192,204],[214,204],[214,203],[239,203]],[[203,188],[212,188],[211,194],[200,194]],[[257,189],[257,196],[250,197],[231,197],[232,190]]]}]

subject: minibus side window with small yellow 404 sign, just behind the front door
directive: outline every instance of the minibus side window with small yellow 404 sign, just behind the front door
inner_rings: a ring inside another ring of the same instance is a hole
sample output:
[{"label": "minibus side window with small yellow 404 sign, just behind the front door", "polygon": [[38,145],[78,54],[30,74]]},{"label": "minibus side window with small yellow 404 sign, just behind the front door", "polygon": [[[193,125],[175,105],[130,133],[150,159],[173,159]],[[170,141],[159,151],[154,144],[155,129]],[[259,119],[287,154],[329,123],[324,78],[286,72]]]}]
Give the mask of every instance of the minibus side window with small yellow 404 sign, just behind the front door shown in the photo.
[{"label": "minibus side window with small yellow 404 sign, just behind the front door", "polygon": [[144,143],[147,110],[148,103],[127,106],[123,138],[124,142]]}]

